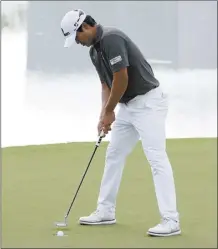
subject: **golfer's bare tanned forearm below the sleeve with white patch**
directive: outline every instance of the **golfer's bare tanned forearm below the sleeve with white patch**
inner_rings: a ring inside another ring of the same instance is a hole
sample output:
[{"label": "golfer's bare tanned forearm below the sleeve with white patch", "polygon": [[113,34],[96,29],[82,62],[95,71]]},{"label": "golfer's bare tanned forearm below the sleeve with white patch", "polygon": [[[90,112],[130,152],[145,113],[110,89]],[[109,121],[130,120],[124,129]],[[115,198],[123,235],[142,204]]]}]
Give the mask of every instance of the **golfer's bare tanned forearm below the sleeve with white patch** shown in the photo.
[{"label": "golfer's bare tanned forearm below the sleeve with white patch", "polygon": [[113,81],[111,93],[105,106],[106,112],[114,111],[118,102],[120,101],[123,94],[125,93],[127,86],[128,86],[127,79],[122,79],[122,80],[120,79],[119,81],[118,80]]}]

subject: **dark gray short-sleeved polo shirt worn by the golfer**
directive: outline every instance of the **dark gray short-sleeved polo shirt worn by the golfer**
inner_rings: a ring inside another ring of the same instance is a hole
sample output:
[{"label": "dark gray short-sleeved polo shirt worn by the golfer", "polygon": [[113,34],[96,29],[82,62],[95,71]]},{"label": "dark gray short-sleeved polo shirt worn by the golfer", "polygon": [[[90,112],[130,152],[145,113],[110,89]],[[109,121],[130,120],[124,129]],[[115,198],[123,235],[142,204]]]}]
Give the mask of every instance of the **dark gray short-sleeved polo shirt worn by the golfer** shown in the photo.
[{"label": "dark gray short-sleeved polo shirt worn by the golfer", "polygon": [[127,103],[137,95],[159,86],[151,66],[139,48],[116,28],[97,26],[97,36],[90,48],[90,57],[101,82],[105,82],[109,88],[112,87],[113,73],[127,67],[128,87],[120,103]]}]

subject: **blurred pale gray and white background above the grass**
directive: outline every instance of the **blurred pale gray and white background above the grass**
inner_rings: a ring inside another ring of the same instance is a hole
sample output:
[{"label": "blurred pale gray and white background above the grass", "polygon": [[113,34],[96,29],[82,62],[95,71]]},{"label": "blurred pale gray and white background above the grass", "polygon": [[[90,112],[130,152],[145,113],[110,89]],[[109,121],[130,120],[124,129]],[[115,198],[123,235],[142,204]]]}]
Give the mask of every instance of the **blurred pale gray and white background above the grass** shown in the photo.
[{"label": "blurred pale gray and white background above the grass", "polygon": [[168,138],[217,137],[216,1],[2,1],[2,147],[96,140],[101,85],[60,30],[76,8],[139,46],[169,94]]}]

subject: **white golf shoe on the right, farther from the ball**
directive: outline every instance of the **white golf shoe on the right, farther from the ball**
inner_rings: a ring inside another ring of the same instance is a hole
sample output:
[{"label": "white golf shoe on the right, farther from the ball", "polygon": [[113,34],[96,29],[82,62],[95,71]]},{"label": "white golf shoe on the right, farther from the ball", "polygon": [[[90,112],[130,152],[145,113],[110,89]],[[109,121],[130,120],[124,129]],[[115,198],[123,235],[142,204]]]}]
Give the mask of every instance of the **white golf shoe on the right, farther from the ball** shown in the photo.
[{"label": "white golf shoe on the right, farther from the ball", "polygon": [[167,237],[181,234],[179,222],[171,219],[163,219],[160,224],[152,227],[147,232],[148,235]]}]

